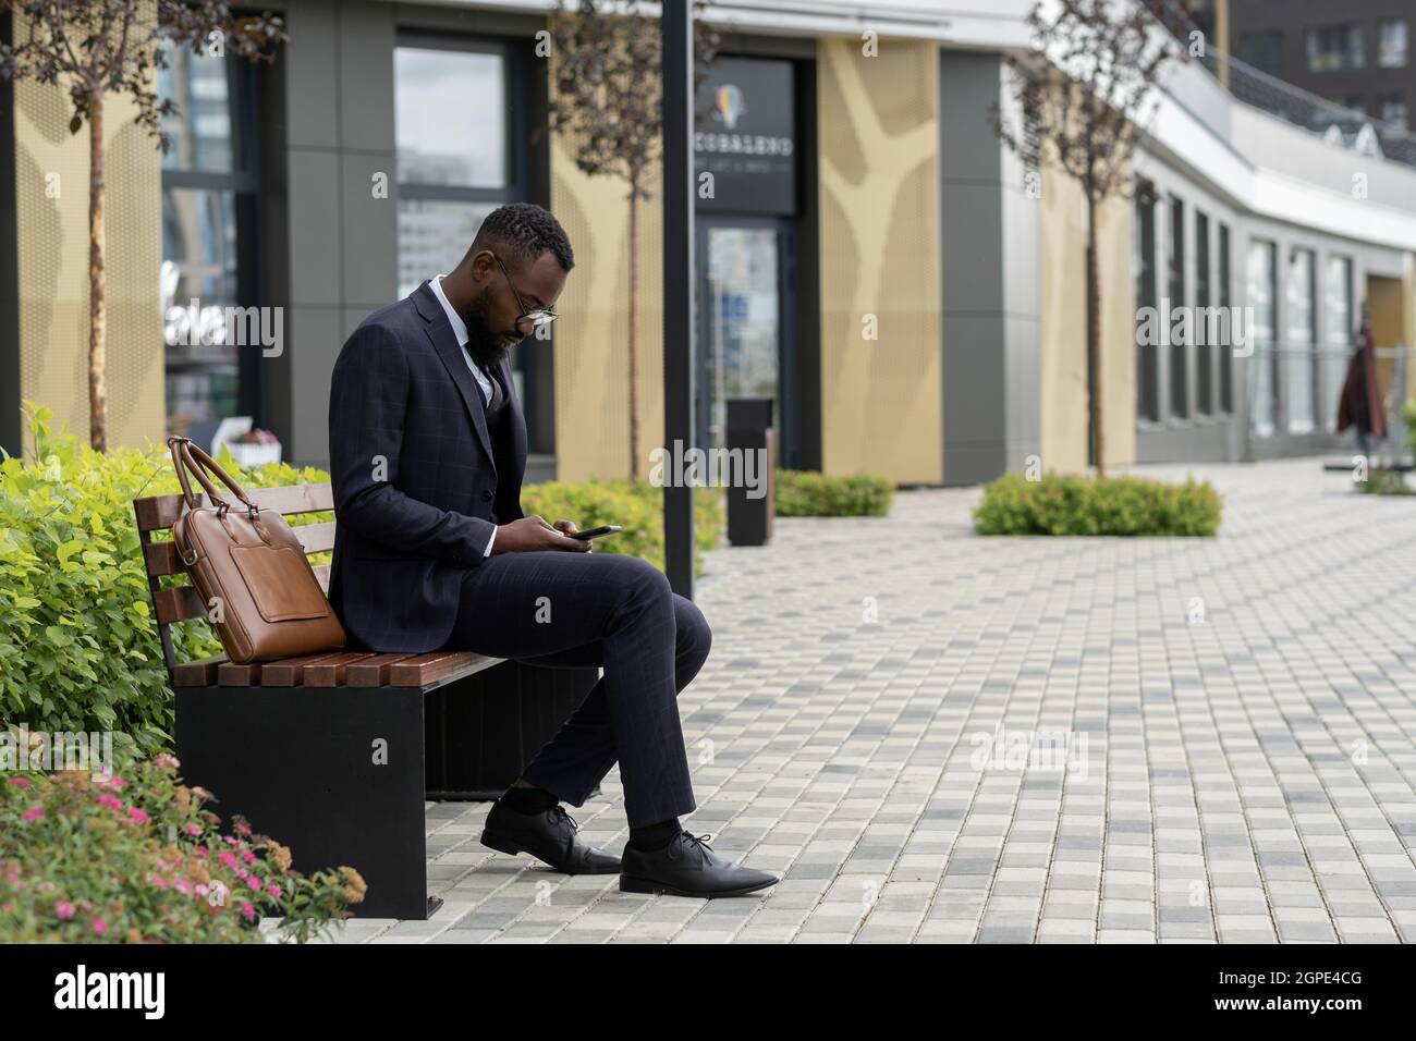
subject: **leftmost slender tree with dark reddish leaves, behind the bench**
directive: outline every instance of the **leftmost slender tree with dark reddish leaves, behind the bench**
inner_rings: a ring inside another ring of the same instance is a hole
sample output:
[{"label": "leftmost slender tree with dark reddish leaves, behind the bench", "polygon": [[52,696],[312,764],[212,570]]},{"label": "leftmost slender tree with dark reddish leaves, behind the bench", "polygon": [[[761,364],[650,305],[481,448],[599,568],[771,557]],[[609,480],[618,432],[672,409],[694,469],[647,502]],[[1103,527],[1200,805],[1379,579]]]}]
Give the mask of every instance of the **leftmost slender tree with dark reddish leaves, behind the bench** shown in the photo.
[{"label": "leftmost slender tree with dark reddish leaves, behind the bench", "polygon": [[0,13],[23,18],[24,38],[0,44],[0,78],[33,79],[68,89],[74,105],[69,133],[89,127],[89,442],[108,448],[106,280],[103,238],[103,102],[129,95],[136,122],[170,146],[163,120],[176,115],[157,96],[157,71],[169,47],[198,54],[232,54],[249,61],[273,58],[286,40],[270,14],[235,17],[225,0],[0,0]]}]

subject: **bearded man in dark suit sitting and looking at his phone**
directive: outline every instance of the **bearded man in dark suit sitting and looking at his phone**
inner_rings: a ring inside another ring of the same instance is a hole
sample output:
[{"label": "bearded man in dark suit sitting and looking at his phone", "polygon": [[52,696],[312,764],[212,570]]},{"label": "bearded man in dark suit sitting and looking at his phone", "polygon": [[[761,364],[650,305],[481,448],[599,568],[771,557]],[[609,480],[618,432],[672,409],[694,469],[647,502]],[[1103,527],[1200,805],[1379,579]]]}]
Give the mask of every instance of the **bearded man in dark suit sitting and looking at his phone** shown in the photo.
[{"label": "bearded man in dark suit sitting and looking at his phone", "polygon": [[[487,814],[481,841],[620,888],[728,897],[777,877],[719,857],[678,817],[695,809],[677,695],[708,656],[702,612],[633,557],[592,554],[521,511],[527,433],[508,354],[555,320],[573,266],[545,210],[493,211],[447,275],[367,317],[330,385],[338,534],[330,601],[378,652],[474,650],[600,666],[585,702]],[[623,861],[561,807],[620,765]]]}]

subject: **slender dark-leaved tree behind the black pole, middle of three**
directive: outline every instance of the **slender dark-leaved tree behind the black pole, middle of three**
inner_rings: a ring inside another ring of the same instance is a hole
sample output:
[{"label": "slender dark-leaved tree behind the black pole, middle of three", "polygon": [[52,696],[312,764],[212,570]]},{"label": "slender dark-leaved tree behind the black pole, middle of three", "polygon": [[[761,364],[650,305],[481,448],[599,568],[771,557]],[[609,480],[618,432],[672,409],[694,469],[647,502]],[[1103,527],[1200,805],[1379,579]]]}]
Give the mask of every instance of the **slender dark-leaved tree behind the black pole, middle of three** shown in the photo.
[{"label": "slender dark-leaved tree behind the black pole, middle of three", "polygon": [[[629,188],[629,476],[639,472],[639,205],[663,156],[661,40],[657,18],[636,0],[556,0],[551,21],[551,127],[589,177],[615,177]],[[694,3],[695,16],[701,11]],[[714,59],[716,34],[694,23],[695,84]]]}]

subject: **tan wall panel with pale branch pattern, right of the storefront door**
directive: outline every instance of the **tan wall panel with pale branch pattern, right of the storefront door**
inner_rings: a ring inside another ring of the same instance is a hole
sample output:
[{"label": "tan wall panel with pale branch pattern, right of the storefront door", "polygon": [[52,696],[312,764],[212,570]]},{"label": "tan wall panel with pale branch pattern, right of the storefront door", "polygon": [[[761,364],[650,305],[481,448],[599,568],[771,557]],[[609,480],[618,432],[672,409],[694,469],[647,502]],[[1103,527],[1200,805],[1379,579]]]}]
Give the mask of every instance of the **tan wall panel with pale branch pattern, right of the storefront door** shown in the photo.
[{"label": "tan wall panel with pale branch pattern, right of the storefront door", "polygon": [[937,47],[881,40],[865,57],[860,40],[821,40],[817,96],[823,470],[937,483]]}]

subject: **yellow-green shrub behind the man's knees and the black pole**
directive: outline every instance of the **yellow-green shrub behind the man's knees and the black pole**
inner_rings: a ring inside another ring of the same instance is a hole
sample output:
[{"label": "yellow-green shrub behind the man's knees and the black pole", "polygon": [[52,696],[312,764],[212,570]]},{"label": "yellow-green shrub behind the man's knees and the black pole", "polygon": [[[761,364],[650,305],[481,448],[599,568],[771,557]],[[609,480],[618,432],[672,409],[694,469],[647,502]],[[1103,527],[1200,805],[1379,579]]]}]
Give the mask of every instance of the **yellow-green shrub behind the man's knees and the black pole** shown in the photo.
[{"label": "yellow-green shrub behind the man's knees and the black pole", "polygon": [[[521,490],[521,508],[547,524],[562,517],[581,528],[619,524],[623,531],[596,540],[595,552],[643,557],[664,569],[664,490],[647,480],[549,480]],[[702,554],[722,541],[724,493],[694,489],[694,569],[702,574]]]}]

